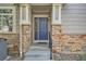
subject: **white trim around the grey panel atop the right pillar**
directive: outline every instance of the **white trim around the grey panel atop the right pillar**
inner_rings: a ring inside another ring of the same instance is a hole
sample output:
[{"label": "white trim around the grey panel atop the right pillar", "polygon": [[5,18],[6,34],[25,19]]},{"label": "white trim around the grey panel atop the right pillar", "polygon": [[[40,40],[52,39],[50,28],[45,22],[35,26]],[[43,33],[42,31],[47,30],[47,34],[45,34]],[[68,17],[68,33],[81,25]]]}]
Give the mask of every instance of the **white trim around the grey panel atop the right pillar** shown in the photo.
[{"label": "white trim around the grey panel atop the right pillar", "polygon": [[[59,7],[59,20],[56,20],[56,7]],[[61,4],[52,4],[52,24],[61,24]]]}]

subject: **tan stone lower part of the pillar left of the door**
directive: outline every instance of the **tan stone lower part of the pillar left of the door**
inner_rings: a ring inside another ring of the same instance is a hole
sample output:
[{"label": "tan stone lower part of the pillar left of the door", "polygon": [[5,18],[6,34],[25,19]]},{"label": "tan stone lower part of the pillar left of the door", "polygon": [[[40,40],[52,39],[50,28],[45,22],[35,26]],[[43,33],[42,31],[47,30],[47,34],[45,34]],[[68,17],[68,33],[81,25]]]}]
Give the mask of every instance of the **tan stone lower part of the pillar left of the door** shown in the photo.
[{"label": "tan stone lower part of the pillar left of the door", "polygon": [[29,44],[30,44],[30,25],[28,24],[23,24],[22,25],[22,48],[23,48],[23,52],[28,51]]}]

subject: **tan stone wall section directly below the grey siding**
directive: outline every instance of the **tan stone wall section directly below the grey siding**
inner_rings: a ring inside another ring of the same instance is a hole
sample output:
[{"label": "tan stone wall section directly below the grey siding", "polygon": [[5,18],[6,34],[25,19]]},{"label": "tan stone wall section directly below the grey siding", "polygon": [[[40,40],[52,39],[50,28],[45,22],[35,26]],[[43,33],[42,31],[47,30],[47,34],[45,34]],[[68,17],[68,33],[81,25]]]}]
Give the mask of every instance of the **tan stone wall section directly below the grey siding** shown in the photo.
[{"label": "tan stone wall section directly below the grey siding", "polygon": [[86,52],[86,35],[62,35],[60,43],[62,51]]}]

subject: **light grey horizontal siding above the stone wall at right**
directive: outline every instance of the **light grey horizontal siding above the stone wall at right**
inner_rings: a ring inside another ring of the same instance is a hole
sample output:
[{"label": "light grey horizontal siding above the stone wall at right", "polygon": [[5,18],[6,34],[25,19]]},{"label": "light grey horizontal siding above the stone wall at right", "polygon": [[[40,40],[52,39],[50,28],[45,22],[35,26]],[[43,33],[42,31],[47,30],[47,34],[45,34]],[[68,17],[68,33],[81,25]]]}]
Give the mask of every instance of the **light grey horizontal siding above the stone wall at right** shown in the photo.
[{"label": "light grey horizontal siding above the stone wall at right", "polygon": [[64,34],[86,34],[86,4],[69,3],[62,7]]}]

